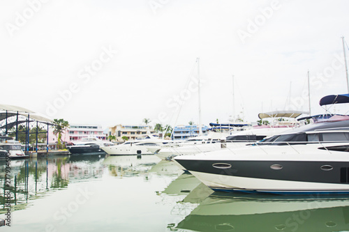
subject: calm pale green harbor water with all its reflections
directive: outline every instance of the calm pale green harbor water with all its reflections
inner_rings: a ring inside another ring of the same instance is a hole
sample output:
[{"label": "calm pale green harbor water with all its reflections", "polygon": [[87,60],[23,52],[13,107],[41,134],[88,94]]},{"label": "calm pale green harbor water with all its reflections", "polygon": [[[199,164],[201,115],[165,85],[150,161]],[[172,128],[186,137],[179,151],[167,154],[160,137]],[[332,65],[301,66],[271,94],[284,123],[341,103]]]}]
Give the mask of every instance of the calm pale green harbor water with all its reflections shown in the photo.
[{"label": "calm pale green harbor water with all its reflections", "polygon": [[1,231],[349,231],[349,197],[224,194],[154,155],[12,160]]}]

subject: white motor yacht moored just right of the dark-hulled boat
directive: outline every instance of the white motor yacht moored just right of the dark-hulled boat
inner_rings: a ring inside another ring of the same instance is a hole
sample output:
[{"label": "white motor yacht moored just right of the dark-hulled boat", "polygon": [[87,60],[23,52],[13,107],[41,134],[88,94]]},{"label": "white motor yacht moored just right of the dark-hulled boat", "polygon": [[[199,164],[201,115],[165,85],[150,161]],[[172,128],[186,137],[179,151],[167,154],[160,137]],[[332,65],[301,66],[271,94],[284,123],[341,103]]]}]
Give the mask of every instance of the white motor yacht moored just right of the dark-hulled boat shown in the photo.
[{"label": "white motor yacht moored just right of the dark-hulled boat", "polygon": [[158,139],[156,135],[147,134],[140,140],[126,141],[116,146],[102,146],[101,149],[109,155],[153,155],[149,147],[160,147],[168,142],[165,139]]}]

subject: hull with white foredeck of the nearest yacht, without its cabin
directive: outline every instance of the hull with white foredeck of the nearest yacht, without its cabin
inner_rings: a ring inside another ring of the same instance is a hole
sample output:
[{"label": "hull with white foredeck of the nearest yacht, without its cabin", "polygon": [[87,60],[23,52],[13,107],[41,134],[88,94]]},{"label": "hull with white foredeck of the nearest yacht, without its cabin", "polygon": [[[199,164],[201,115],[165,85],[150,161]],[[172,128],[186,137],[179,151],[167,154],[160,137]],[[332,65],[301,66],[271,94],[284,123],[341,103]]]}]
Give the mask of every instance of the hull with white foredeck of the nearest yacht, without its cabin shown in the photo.
[{"label": "hull with white foredeck of the nearest yacht, without its cabin", "polygon": [[174,160],[216,191],[348,194],[348,153],[324,146],[331,144],[253,146]]}]

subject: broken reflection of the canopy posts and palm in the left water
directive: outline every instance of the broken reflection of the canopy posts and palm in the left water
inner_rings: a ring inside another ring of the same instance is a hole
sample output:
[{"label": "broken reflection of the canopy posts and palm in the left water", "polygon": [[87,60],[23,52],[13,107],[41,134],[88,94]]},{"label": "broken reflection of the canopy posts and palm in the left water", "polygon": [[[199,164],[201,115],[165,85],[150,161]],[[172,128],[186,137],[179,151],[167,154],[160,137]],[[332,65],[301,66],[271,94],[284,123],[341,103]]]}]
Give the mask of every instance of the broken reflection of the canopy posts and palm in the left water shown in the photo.
[{"label": "broken reflection of the canopy posts and palm in the left water", "polygon": [[104,157],[47,157],[11,160],[10,185],[6,185],[6,162],[0,162],[0,214],[6,212],[5,191],[10,192],[12,210],[21,210],[30,200],[61,190],[69,183],[101,178]]}]

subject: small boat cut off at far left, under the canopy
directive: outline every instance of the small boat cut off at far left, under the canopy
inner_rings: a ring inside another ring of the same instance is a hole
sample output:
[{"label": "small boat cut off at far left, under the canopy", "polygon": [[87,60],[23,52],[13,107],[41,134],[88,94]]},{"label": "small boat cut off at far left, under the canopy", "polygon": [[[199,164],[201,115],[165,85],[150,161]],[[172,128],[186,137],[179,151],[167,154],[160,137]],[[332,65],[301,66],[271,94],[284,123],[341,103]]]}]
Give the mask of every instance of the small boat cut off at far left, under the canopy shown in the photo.
[{"label": "small boat cut off at far left, under the canopy", "polygon": [[29,155],[24,154],[20,141],[16,141],[12,137],[0,136],[0,158],[5,159],[6,156],[10,159],[29,157]]}]

